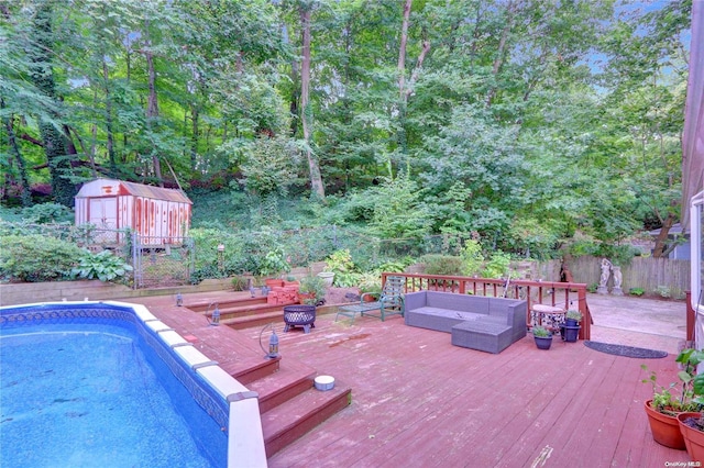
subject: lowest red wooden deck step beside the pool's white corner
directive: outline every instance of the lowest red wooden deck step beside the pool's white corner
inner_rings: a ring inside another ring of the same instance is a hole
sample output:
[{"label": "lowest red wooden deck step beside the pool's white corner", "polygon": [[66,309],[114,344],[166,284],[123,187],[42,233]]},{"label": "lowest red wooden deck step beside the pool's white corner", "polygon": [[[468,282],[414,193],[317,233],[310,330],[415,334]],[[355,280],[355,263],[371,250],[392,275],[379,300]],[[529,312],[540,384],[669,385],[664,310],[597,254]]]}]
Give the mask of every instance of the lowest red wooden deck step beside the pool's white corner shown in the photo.
[{"label": "lowest red wooden deck step beside the pool's white corner", "polygon": [[352,389],[338,381],[332,390],[319,391],[311,387],[298,397],[262,414],[266,456],[273,456],[346,408],[351,398]]}]

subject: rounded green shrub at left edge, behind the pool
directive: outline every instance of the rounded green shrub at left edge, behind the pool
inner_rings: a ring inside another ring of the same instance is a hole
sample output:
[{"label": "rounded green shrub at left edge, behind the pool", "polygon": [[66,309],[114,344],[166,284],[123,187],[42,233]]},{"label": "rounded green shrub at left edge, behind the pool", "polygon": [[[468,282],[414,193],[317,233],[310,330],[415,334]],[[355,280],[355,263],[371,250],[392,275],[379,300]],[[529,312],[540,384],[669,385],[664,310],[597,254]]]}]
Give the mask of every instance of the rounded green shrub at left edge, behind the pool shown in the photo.
[{"label": "rounded green shrub at left edge, behind the pool", "polygon": [[69,280],[86,255],[72,243],[36,234],[4,236],[0,243],[0,278],[10,281]]}]

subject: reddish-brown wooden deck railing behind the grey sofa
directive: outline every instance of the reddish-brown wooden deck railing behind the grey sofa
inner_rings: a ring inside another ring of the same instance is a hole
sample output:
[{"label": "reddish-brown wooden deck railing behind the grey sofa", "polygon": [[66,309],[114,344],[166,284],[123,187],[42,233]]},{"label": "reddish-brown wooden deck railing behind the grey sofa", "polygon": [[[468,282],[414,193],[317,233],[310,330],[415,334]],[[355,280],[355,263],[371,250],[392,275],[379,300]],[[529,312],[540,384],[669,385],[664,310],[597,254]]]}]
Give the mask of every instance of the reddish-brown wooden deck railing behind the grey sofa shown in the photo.
[{"label": "reddish-brown wooden deck railing behind the grey sofa", "polygon": [[491,296],[494,298],[524,299],[528,302],[526,323],[530,326],[530,311],[535,304],[578,309],[582,313],[580,338],[592,335],[592,314],[586,303],[586,283],[532,281],[527,279],[492,279],[465,276],[383,272],[382,285],[387,276],[406,278],[406,292],[444,291],[459,294]]}]

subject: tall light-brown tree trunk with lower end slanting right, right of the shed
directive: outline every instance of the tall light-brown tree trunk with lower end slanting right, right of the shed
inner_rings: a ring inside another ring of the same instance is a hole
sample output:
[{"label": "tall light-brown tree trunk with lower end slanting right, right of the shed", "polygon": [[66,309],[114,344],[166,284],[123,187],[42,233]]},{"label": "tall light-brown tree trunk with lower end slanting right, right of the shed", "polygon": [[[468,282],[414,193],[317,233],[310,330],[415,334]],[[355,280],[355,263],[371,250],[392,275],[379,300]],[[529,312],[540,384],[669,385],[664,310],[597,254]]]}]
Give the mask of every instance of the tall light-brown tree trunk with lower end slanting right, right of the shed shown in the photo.
[{"label": "tall light-brown tree trunk with lower end slanting right, right of the shed", "polygon": [[301,66],[300,66],[300,120],[304,129],[304,140],[306,141],[306,158],[308,159],[308,169],[310,171],[310,191],[311,194],[320,198],[326,197],[322,177],[320,176],[320,167],[316,155],[310,151],[310,133],[312,126],[312,109],[309,102],[310,91],[310,9],[300,8],[300,25],[302,35]]}]

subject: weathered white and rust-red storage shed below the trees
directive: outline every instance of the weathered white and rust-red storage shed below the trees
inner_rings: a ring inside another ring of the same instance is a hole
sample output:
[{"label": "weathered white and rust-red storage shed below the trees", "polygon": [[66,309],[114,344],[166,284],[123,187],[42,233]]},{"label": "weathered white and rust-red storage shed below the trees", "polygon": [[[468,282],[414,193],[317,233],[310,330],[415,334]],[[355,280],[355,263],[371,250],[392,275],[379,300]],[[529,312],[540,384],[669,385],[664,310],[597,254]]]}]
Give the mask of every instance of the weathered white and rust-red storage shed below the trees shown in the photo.
[{"label": "weathered white and rust-red storage shed below the trees", "polygon": [[103,230],[103,242],[124,242],[118,231],[131,229],[143,245],[180,244],[190,227],[193,202],[182,190],[122,180],[86,182],[75,197],[76,225]]}]

